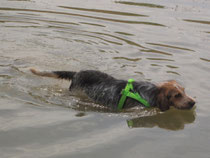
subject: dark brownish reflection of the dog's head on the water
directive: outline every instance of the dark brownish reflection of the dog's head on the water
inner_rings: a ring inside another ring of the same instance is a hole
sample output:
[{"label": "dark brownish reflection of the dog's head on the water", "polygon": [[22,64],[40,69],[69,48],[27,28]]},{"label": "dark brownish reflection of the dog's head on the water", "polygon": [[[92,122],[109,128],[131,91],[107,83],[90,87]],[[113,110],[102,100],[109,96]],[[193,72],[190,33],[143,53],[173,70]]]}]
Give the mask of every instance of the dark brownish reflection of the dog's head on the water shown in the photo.
[{"label": "dark brownish reflection of the dog's head on the water", "polygon": [[195,110],[169,110],[153,116],[143,116],[127,120],[130,128],[159,127],[167,130],[181,130],[195,120]]}]

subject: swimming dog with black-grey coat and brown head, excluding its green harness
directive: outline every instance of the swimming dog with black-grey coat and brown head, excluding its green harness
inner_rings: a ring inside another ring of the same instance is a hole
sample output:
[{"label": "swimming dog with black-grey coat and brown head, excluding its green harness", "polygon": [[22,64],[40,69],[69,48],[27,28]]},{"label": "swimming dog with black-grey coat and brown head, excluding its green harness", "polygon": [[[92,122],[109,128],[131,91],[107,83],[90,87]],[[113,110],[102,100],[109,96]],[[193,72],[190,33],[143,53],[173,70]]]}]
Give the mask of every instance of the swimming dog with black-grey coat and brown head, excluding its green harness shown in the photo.
[{"label": "swimming dog with black-grey coat and brown head, excluding its green harness", "polygon": [[[116,79],[106,73],[95,70],[74,71],[30,71],[38,76],[53,77],[71,81],[69,90],[81,90],[94,102],[116,110],[122,96],[122,90],[128,83],[125,80]],[[133,82],[133,91],[144,98],[150,107],[158,107],[161,111],[170,109],[191,109],[195,100],[185,93],[184,88],[175,80],[158,84],[148,81]],[[132,98],[126,98],[123,108],[144,106]]]}]

